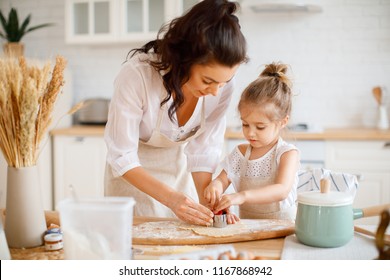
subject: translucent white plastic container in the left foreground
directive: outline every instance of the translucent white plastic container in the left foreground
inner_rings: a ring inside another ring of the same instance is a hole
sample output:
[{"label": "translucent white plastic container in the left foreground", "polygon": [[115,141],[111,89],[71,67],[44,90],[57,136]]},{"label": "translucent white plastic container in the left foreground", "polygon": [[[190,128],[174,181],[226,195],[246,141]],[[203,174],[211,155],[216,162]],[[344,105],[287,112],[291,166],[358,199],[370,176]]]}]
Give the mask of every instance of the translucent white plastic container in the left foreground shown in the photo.
[{"label": "translucent white plastic container in the left foreground", "polygon": [[58,206],[65,259],[131,259],[134,199],[65,199]]}]

